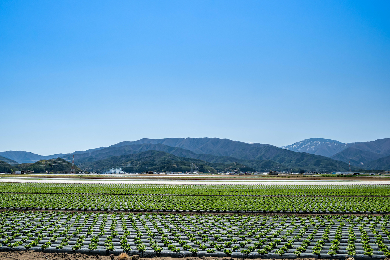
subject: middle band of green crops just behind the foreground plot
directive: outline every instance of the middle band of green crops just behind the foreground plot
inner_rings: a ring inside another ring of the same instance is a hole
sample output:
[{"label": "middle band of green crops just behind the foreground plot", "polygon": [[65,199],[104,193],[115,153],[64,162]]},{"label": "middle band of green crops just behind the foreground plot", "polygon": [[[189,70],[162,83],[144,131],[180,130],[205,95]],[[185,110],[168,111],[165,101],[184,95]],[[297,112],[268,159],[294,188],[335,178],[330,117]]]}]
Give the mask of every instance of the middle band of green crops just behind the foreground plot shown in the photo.
[{"label": "middle band of green crops just behind the foreground plot", "polygon": [[259,197],[175,195],[76,195],[1,193],[2,209],[380,213],[390,212],[390,197]]}]

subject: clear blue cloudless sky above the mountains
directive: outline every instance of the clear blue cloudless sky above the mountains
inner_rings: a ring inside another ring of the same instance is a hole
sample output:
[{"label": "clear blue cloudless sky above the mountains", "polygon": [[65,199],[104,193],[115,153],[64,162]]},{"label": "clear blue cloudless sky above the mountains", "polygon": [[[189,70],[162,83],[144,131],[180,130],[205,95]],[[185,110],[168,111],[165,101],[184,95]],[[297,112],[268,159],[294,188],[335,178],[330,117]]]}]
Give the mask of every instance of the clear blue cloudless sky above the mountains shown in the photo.
[{"label": "clear blue cloudless sky above the mountains", "polygon": [[0,151],[390,138],[390,1],[0,1]]}]

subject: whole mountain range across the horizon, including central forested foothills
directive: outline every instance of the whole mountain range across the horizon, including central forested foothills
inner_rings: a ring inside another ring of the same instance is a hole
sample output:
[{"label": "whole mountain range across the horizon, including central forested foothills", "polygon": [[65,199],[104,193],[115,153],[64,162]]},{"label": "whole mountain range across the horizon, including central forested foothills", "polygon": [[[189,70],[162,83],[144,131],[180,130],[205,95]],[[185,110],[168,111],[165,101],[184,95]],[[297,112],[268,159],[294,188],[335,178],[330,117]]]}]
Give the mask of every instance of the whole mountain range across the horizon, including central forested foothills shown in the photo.
[{"label": "whole mountain range across the horizon, including central forested foothills", "polygon": [[0,152],[0,160],[16,165],[57,157],[70,161],[72,155],[76,165],[87,171],[93,170],[95,166],[95,170],[99,171],[118,167],[129,172],[144,171],[145,167],[149,170],[171,169],[177,172],[194,164],[195,167],[202,166],[206,172],[243,169],[334,172],[347,171],[349,160],[355,166],[352,167],[353,170],[388,170],[390,139],[347,144],[330,139],[310,138],[279,148],[269,144],[219,138],[143,138],[71,154],[40,156],[23,151]]}]

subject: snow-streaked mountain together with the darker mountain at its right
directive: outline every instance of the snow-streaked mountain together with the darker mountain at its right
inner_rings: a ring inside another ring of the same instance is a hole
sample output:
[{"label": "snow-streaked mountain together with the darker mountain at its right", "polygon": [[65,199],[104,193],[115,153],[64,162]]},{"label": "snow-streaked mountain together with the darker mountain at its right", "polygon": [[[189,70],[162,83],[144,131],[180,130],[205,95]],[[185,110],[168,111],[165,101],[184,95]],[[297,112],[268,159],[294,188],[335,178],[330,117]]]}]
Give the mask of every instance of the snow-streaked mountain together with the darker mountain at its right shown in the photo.
[{"label": "snow-streaked mountain together with the darker mountain at its right", "polygon": [[390,138],[368,142],[341,143],[323,138],[310,138],[280,147],[294,152],[307,152],[343,161],[364,169],[388,170],[386,157],[390,156]]}]

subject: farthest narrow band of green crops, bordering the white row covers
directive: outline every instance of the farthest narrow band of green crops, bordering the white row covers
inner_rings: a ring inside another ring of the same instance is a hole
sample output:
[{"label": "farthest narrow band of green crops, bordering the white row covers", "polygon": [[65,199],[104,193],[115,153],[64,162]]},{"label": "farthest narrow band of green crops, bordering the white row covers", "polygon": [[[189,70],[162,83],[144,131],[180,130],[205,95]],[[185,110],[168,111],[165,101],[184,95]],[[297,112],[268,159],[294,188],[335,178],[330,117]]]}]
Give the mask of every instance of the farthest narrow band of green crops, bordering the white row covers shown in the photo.
[{"label": "farthest narrow band of green crops, bordering the white row covers", "polygon": [[390,185],[187,185],[0,183],[0,193],[389,196]]}]

